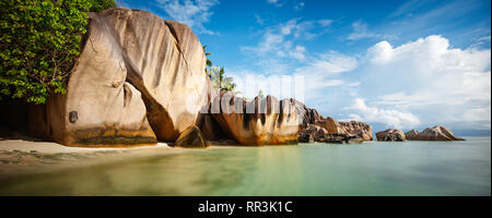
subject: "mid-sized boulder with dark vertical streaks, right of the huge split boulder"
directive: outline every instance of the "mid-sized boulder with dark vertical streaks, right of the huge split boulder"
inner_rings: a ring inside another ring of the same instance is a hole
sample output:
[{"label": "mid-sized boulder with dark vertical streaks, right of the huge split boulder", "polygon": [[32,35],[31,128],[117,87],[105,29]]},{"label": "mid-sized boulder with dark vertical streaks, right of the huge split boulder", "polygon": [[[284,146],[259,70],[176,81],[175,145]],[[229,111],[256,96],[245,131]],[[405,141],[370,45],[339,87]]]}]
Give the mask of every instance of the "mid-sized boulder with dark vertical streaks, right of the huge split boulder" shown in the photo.
[{"label": "mid-sized boulder with dark vertical streaks, right of the huge split boulder", "polygon": [[214,98],[209,109],[225,134],[243,145],[297,143],[300,121],[289,99],[267,96],[246,101],[229,92]]}]

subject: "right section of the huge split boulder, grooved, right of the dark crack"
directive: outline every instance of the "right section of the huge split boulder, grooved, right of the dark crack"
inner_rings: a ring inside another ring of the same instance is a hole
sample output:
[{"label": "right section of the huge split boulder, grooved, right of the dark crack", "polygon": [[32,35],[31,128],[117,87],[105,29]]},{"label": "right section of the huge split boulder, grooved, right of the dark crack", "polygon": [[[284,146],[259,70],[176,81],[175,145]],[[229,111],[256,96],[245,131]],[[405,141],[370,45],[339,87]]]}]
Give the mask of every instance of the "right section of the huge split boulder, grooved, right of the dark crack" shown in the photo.
[{"label": "right section of the huge split boulder, grooved, right of the dark crack", "polygon": [[203,48],[191,29],[139,10],[118,8],[90,15],[96,32],[90,32],[87,45],[102,36],[108,38],[106,50],[120,53],[116,66],[125,69],[126,80],[142,93],[157,138],[174,142],[196,124],[200,109],[210,102],[211,84]]}]

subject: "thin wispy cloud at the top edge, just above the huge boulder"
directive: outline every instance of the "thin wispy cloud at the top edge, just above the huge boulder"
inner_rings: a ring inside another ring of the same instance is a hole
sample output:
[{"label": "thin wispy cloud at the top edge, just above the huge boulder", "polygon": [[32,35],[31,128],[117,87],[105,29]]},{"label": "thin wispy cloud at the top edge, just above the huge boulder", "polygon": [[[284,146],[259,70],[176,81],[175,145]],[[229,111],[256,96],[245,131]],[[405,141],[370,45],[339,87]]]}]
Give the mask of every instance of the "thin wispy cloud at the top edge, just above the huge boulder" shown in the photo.
[{"label": "thin wispy cloud at the top edge, just above the huge boulder", "polygon": [[219,3],[218,0],[157,0],[156,5],[163,9],[175,21],[183,22],[197,33],[216,35],[207,29],[203,24],[210,21],[213,12],[211,8]]}]

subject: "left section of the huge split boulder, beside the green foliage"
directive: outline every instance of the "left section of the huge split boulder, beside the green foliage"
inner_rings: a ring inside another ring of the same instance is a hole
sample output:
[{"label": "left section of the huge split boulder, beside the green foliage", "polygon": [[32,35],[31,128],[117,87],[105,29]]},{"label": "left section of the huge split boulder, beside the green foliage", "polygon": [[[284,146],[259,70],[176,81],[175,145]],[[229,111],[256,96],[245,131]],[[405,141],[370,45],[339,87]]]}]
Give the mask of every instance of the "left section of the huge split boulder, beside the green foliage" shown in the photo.
[{"label": "left section of the huge split boulder, beside the green foliage", "polygon": [[126,82],[130,68],[125,50],[110,22],[91,13],[89,36],[70,73],[67,94],[50,96],[45,119],[36,125],[67,146],[156,144],[141,93]]}]

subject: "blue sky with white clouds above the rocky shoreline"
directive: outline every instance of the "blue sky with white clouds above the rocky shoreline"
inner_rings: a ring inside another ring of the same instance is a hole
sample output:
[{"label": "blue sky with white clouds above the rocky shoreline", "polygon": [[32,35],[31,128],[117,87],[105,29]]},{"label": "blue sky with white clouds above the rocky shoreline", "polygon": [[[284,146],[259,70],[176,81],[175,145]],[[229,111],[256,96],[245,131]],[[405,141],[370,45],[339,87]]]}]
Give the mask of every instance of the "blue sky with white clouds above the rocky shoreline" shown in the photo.
[{"label": "blue sky with white clouds above the rocky shoreline", "polygon": [[324,116],[490,134],[488,0],[117,2],[188,24],[246,97],[289,97],[279,77],[302,76]]}]

